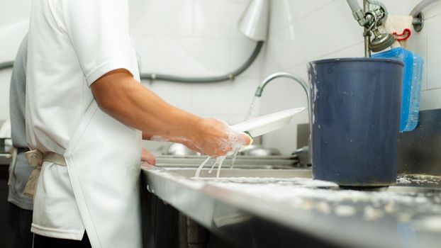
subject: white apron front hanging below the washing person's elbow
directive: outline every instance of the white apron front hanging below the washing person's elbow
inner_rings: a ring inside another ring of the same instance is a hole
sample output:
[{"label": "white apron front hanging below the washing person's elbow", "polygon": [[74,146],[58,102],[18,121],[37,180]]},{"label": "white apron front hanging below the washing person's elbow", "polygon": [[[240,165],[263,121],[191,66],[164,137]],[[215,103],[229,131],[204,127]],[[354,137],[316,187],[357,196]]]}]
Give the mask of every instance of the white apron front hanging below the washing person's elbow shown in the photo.
[{"label": "white apron front hanging below the washing person's elbow", "polygon": [[92,247],[142,247],[139,130],[92,101],[65,152],[69,178]]}]

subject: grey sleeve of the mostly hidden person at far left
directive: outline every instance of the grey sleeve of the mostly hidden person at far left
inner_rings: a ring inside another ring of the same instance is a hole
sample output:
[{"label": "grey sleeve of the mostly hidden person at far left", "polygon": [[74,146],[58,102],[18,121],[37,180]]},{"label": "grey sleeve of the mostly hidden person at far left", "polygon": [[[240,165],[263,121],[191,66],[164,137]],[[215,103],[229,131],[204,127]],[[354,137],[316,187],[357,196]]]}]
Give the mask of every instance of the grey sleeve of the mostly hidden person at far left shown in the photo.
[{"label": "grey sleeve of the mostly hidden person at far left", "polygon": [[26,143],[26,62],[28,58],[28,35],[23,38],[13,64],[9,90],[9,114],[11,138],[14,147],[28,147]]}]

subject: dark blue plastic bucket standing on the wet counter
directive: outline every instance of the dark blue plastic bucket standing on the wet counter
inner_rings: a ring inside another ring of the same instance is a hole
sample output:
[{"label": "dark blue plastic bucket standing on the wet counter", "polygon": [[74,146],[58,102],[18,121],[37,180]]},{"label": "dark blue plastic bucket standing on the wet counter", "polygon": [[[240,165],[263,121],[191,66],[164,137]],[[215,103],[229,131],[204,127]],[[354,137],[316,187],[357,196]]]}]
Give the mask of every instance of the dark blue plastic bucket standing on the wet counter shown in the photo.
[{"label": "dark blue plastic bucket standing on the wet counter", "polygon": [[403,63],[348,58],[308,64],[313,178],[396,183]]}]

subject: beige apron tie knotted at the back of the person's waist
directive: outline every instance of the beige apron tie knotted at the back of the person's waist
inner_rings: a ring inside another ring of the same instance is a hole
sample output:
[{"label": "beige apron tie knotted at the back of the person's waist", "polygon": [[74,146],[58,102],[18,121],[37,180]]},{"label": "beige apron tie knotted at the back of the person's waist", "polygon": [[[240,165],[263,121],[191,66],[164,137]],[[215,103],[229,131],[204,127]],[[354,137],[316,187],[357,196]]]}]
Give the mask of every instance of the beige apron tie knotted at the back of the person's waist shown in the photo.
[{"label": "beige apron tie knotted at the back of the person's waist", "polygon": [[66,166],[65,156],[62,154],[58,154],[55,152],[40,152],[39,150],[31,150],[29,152],[25,152],[26,159],[28,160],[28,164],[34,169],[30,173],[28,182],[26,183],[24,194],[26,196],[33,197],[35,193],[35,188],[37,186],[38,176],[40,176],[41,166],[43,162],[52,162],[54,164]]}]

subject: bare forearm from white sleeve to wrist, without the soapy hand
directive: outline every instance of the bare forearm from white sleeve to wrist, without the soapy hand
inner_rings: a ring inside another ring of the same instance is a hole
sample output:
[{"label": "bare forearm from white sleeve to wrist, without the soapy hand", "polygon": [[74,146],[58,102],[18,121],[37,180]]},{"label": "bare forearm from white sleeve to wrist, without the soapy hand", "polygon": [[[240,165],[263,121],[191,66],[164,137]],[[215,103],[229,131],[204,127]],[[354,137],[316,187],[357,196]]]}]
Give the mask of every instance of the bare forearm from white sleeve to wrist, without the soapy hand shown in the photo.
[{"label": "bare forearm from white sleeve to wrist, without the soapy hand", "polygon": [[104,75],[91,90],[103,111],[143,131],[144,138],[198,135],[201,118],[169,105],[123,69]]}]

